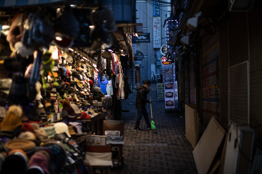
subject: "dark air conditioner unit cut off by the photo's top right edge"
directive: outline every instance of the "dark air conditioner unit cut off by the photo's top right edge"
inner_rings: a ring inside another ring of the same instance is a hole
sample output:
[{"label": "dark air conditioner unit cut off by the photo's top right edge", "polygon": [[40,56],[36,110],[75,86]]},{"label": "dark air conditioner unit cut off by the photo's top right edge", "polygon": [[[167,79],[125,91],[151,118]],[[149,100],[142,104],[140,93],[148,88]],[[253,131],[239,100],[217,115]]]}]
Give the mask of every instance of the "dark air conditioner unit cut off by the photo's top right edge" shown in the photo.
[{"label": "dark air conditioner unit cut off by the photo's top right edge", "polygon": [[254,0],[229,0],[229,11],[249,11]]}]

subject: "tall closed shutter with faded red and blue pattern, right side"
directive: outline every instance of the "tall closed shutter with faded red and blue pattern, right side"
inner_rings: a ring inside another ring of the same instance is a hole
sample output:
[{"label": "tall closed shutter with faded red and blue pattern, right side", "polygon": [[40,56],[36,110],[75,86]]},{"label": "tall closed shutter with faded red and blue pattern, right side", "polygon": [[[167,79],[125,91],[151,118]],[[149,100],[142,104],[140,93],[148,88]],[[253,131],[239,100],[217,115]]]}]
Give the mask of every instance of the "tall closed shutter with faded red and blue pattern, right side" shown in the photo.
[{"label": "tall closed shutter with faded red and blue pattern, right side", "polygon": [[212,116],[220,120],[218,32],[202,40],[202,113],[204,127]]}]

